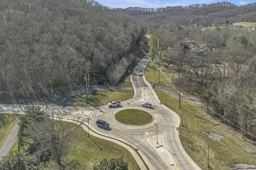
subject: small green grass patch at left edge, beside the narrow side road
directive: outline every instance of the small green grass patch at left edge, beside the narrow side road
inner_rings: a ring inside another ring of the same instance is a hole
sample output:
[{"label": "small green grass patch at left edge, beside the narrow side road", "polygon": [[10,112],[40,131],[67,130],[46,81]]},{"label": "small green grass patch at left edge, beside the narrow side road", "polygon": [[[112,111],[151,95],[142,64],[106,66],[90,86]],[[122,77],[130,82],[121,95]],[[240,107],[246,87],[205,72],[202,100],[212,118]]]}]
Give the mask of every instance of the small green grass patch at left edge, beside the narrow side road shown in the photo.
[{"label": "small green grass patch at left edge, beside the narrow side road", "polygon": [[18,120],[18,117],[18,114],[0,114],[0,146],[3,144],[14,123]]}]

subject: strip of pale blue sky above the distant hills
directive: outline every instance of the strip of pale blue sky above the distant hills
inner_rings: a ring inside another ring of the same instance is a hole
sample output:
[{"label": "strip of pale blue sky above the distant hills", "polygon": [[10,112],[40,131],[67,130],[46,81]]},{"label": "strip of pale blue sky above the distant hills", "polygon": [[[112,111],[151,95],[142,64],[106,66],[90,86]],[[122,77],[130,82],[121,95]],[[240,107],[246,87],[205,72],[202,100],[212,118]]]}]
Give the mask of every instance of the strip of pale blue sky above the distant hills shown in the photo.
[{"label": "strip of pale blue sky above the distant hills", "polygon": [[238,6],[254,3],[255,0],[95,0],[103,6],[109,8],[128,8],[128,7],[142,7],[142,8],[165,8],[166,6],[188,6],[191,4],[213,4],[216,2],[231,2]]}]

